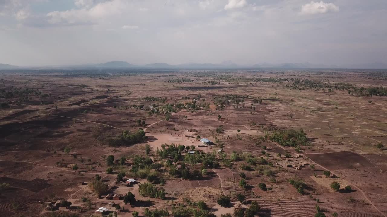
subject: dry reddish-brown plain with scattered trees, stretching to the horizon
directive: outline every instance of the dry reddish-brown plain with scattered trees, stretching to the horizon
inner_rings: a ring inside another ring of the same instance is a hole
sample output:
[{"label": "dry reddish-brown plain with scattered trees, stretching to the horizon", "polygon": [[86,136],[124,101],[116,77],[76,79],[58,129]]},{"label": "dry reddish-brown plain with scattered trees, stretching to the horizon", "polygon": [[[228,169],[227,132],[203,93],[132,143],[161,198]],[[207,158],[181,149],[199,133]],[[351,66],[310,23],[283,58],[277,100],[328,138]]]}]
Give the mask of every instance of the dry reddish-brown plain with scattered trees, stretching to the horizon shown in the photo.
[{"label": "dry reddish-brown plain with scattered trees, stretching to the horizon", "polygon": [[[387,216],[387,84],[379,71],[0,78],[2,216],[86,217],[99,207],[119,217],[156,208],[220,216],[255,205],[262,216]],[[124,202],[128,192],[136,202]]]}]

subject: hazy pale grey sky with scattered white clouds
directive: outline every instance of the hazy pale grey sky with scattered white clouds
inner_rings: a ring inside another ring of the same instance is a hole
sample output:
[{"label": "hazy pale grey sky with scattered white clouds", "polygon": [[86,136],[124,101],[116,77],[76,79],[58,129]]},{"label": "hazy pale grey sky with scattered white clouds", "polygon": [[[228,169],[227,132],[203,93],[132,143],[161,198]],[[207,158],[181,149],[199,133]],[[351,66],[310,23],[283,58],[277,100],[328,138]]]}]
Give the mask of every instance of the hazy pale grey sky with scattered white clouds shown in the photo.
[{"label": "hazy pale grey sky with scattered white clouds", "polygon": [[387,0],[0,0],[0,63],[387,62]]}]

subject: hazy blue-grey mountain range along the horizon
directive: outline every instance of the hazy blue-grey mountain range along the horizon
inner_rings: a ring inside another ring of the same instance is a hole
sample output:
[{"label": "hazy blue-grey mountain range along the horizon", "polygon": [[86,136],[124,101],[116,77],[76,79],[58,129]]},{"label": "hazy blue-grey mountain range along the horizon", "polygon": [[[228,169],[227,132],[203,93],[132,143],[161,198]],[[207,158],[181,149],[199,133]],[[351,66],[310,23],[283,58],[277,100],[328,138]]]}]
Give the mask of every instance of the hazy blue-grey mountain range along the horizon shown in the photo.
[{"label": "hazy blue-grey mountain range along the horizon", "polygon": [[338,65],[324,65],[324,64],[312,64],[312,63],[260,63],[254,65],[238,65],[232,61],[224,61],[222,63],[183,63],[178,65],[171,65],[168,63],[149,63],[145,65],[130,64],[126,61],[110,61],[107,63],[99,64],[84,64],[74,66],[34,66],[34,67],[22,67],[13,66],[10,64],[0,64],[0,70],[13,70],[13,69],[125,69],[125,68],[149,68],[149,69],[308,69],[308,68],[352,68],[352,69],[387,69],[387,64],[375,62],[365,64],[353,64],[347,66]]}]

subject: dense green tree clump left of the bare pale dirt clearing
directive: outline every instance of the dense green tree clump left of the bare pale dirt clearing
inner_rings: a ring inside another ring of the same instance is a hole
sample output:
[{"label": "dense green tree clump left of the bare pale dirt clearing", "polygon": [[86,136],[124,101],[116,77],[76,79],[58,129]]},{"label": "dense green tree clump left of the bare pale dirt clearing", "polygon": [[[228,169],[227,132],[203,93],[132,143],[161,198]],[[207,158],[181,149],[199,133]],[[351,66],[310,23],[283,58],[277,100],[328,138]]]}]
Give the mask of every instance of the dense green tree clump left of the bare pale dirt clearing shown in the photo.
[{"label": "dense green tree clump left of the bare pale dirt clearing", "polygon": [[145,132],[142,128],[138,129],[136,132],[131,133],[129,131],[123,131],[122,134],[116,136],[115,138],[108,138],[107,142],[110,147],[117,147],[123,145],[132,145],[138,142],[146,140],[148,137],[145,135]]}]

